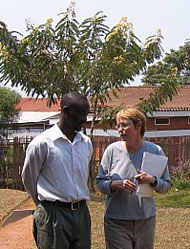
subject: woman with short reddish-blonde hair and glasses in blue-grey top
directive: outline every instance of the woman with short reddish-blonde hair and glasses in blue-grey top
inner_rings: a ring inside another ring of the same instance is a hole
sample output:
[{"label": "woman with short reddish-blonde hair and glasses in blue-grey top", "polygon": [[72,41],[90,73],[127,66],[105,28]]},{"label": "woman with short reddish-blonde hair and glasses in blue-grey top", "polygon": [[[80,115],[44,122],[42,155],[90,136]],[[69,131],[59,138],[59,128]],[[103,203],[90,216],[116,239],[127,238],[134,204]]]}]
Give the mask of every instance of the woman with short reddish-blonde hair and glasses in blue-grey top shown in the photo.
[{"label": "woman with short reddish-blonde hair and glasses in blue-grey top", "polygon": [[143,152],[164,155],[160,146],[144,141],[146,117],[135,107],[121,110],[116,116],[123,141],[109,145],[102,157],[97,184],[107,195],[104,231],[107,249],[153,249],[155,201],[138,197],[138,184],[150,184],[158,193],[169,188],[166,166],[161,178],[141,170]]}]

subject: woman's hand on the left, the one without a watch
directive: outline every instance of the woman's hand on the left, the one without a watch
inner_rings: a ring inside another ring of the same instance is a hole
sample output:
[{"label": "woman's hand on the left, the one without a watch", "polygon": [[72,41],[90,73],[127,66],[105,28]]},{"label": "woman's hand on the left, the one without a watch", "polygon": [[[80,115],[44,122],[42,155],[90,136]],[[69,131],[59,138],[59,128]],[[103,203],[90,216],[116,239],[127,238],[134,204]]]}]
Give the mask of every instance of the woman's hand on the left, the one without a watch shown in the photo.
[{"label": "woman's hand on the left, the one without a watch", "polygon": [[137,186],[133,182],[131,182],[127,179],[114,180],[111,183],[111,189],[112,190],[122,189],[128,193],[132,193],[132,192],[136,191]]}]

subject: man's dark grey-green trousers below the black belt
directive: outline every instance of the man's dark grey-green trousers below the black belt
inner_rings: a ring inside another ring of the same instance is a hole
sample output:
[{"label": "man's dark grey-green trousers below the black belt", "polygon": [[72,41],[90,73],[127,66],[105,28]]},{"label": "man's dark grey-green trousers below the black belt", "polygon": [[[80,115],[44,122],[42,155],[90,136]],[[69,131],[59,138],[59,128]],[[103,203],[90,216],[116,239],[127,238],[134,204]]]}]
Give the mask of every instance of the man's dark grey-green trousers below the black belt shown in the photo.
[{"label": "man's dark grey-green trousers below the black belt", "polygon": [[38,249],[90,249],[88,207],[72,211],[54,205],[38,205],[33,215],[33,235]]}]

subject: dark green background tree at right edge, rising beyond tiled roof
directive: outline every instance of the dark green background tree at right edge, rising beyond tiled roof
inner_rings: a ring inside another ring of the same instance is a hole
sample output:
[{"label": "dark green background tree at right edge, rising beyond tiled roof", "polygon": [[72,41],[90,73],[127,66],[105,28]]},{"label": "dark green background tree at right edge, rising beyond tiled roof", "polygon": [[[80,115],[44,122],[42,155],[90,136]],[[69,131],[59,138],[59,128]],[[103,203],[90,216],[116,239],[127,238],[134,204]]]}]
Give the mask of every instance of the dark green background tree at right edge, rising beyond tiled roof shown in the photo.
[{"label": "dark green background tree at right edge, rising beyond tiled roof", "polygon": [[178,50],[170,50],[162,61],[149,66],[142,82],[148,85],[160,85],[167,79],[171,70],[176,70],[179,84],[190,84],[190,41],[180,46]]}]

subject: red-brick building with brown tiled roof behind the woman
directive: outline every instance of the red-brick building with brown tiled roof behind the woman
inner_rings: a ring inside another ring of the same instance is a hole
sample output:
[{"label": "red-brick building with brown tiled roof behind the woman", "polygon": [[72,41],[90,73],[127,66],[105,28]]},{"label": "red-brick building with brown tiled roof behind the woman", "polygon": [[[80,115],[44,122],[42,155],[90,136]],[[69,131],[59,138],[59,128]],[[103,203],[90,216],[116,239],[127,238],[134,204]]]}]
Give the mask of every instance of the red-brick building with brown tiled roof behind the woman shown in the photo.
[{"label": "red-brick building with brown tiled roof behind the woman", "polygon": [[[125,87],[113,97],[109,106],[139,104],[157,89],[155,86]],[[172,101],[167,101],[152,114],[147,113],[146,137],[190,136],[190,86],[180,86]],[[97,130],[101,127],[98,127]],[[114,129],[108,132],[115,134]]]}]

